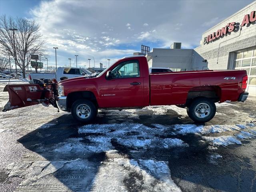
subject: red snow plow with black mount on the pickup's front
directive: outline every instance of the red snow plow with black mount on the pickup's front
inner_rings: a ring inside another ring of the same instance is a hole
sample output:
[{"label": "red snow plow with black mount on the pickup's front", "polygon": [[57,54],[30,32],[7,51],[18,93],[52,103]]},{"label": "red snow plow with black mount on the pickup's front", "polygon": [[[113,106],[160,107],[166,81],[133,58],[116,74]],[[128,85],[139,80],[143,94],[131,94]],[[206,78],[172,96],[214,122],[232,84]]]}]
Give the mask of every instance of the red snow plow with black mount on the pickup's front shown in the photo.
[{"label": "red snow plow with black mount on the pickup's front", "polygon": [[4,92],[8,91],[9,101],[4,106],[3,112],[15,108],[22,108],[42,103],[43,106],[52,104],[57,107],[58,98],[57,81],[54,80],[34,80],[34,84],[6,85]]}]

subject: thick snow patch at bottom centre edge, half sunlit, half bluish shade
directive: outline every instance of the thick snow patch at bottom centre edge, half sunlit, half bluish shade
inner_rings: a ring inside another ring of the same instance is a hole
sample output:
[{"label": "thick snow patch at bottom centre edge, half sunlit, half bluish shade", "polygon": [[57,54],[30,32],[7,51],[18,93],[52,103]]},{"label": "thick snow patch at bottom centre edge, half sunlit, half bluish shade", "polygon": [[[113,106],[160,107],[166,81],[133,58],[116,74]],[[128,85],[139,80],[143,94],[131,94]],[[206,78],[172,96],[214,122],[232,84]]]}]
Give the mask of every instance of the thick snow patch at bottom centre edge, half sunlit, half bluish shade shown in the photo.
[{"label": "thick snow patch at bottom centre edge, half sunlit, half bluish shade", "polygon": [[[110,177],[111,175],[111,177]],[[106,191],[181,192],[164,161],[114,159],[100,166],[92,189]]]}]

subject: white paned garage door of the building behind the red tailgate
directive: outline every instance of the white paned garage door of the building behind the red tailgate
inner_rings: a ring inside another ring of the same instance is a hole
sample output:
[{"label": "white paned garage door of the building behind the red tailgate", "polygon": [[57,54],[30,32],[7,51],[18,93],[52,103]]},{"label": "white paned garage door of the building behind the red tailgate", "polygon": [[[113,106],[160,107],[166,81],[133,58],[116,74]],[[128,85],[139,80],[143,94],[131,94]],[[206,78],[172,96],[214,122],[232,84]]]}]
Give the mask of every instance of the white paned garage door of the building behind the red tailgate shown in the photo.
[{"label": "white paned garage door of the building behind the red tailgate", "polygon": [[236,53],[233,68],[247,71],[246,91],[249,92],[249,95],[256,96],[256,48]]}]

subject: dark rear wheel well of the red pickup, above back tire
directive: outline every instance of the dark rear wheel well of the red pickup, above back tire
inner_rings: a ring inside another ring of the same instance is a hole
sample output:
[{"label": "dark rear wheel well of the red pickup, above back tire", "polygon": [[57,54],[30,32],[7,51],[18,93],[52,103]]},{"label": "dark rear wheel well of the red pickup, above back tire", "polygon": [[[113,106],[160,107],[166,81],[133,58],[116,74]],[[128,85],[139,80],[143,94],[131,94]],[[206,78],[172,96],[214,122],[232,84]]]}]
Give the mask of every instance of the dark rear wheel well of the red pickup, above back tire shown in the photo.
[{"label": "dark rear wheel well of the red pickup, above back tire", "polygon": [[189,90],[186,106],[189,106],[191,102],[198,97],[209,98],[212,101],[219,102],[221,98],[221,88],[219,86],[198,86]]}]

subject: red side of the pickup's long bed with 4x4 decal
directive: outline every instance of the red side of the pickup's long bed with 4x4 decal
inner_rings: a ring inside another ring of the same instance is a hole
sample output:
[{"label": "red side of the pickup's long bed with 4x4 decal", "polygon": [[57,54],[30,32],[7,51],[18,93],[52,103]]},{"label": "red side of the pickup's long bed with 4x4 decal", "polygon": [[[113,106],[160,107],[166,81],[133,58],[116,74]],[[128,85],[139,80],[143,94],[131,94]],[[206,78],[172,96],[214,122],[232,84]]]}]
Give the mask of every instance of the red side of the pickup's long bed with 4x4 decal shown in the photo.
[{"label": "red side of the pickup's long bed with 4x4 decal", "polygon": [[150,105],[185,104],[191,92],[217,92],[220,102],[237,101],[246,70],[150,74]]}]

